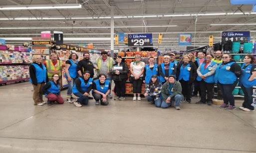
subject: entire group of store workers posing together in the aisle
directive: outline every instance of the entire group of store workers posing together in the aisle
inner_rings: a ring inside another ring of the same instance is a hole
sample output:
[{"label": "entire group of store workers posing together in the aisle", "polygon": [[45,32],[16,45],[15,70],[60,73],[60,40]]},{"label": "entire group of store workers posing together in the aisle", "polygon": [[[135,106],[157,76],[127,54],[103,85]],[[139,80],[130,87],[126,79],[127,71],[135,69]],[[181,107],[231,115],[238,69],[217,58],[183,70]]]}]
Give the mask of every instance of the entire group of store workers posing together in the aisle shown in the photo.
[{"label": "entire group of store workers posing together in the aisle", "polygon": [[[78,56],[71,53],[65,63],[65,77],[68,81],[67,102],[81,107],[88,104],[90,92],[96,104],[108,105],[111,96],[112,79],[115,82],[115,100],[125,99],[125,83],[128,79],[129,68],[118,56],[116,62],[102,52],[101,57],[90,61],[90,54],[84,53],[84,59],[77,61]],[[30,81],[34,88],[33,99],[35,105],[43,105],[42,95],[48,98],[47,104],[54,101],[64,103],[60,96],[61,67],[55,54],[51,60],[42,63],[40,56],[32,57],[30,65]],[[136,55],[135,61],[130,64],[129,81],[133,84],[133,100],[141,100],[141,86],[144,82],[146,89],[144,96],[156,107],[167,108],[171,105],[180,110],[180,103],[184,100],[191,103],[191,97],[201,95],[196,104],[212,105],[214,86],[217,84],[218,97],[224,100],[220,108],[236,109],[232,94],[238,81],[245,94],[245,101],[240,109],[253,111],[253,86],[256,85],[256,60],[252,55],[246,55],[242,68],[232,60],[229,54],[216,51],[215,56],[197,53],[184,55],[180,62],[175,60],[174,53],[165,55],[163,63],[157,65],[154,57],[149,58],[149,64],[141,61]],[[93,79],[94,69],[97,79]],[[48,80],[50,79],[50,80]],[[45,84],[46,83],[46,84]],[[45,84],[45,85],[44,85]],[[78,98],[73,98],[72,94]]]}]

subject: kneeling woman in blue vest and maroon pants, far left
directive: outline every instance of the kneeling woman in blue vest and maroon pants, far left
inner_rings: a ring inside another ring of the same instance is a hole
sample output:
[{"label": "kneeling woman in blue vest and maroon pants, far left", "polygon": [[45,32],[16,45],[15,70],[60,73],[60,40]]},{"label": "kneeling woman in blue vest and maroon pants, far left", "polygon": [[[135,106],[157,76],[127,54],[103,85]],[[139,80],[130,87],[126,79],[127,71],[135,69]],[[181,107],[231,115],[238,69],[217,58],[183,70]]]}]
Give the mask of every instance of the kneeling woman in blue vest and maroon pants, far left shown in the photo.
[{"label": "kneeling woman in blue vest and maroon pants, far left", "polygon": [[45,84],[43,87],[43,93],[48,99],[47,105],[52,105],[54,101],[57,101],[59,104],[63,104],[64,100],[60,95],[60,85],[59,85],[59,75],[54,74],[51,77],[51,80]]}]

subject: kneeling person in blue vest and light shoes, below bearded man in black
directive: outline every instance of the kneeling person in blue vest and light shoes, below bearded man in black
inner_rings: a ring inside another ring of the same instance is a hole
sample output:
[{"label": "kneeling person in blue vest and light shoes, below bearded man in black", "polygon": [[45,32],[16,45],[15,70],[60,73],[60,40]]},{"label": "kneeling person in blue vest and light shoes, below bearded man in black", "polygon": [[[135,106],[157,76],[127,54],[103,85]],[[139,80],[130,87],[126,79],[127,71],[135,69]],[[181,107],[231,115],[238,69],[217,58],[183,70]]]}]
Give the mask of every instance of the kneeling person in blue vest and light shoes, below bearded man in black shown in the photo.
[{"label": "kneeling person in blue vest and light shoes, below bearded man in black", "polygon": [[90,71],[85,71],[83,73],[83,77],[78,77],[75,80],[73,93],[79,98],[76,98],[71,102],[73,102],[76,107],[82,107],[82,105],[88,104],[89,92],[92,89],[92,82],[93,78],[90,77]]}]

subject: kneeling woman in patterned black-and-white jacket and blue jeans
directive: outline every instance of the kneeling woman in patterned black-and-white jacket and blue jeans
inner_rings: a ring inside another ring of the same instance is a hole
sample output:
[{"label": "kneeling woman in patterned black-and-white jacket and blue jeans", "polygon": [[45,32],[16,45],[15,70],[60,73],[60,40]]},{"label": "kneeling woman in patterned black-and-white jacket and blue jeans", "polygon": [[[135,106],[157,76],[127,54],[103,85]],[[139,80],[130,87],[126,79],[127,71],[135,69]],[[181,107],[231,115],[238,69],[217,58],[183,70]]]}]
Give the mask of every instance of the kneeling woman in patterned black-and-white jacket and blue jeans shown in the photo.
[{"label": "kneeling woman in patterned black-and-white jacket and blue jeans", "polygon": [[156,107],[161,106],[161,102],[162,102],[161,88],[162,88],[162,83],[157,78],[157,75],[151,76],[149,85],[145,90],[144,96],[147,98],[148,102],[152,102],[153,104],[156,105]]}]

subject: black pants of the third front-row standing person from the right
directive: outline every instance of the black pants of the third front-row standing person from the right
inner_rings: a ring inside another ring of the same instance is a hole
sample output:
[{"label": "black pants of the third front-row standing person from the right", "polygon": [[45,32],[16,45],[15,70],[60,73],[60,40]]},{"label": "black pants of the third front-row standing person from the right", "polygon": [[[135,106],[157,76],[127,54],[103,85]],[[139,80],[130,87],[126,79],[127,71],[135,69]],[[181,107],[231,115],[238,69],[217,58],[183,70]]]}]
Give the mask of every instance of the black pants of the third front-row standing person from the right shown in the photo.
[{"label": "black pants of the third front-row standing person from the right", "polygon": [[[214,84],[215,83],[207,83],[204,80],[200,81],[201,102],[213,102]],[[206,94],[207,94],[207,99],[206,99]]]}]

